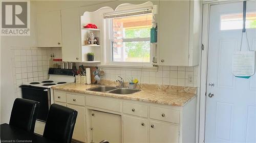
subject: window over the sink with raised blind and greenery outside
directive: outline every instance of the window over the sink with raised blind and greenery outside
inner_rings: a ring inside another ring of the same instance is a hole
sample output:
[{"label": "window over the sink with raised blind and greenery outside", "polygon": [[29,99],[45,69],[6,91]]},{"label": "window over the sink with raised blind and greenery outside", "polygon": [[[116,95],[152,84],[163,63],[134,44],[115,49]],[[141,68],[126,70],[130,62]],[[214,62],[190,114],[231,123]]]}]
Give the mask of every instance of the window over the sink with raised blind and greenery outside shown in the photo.
[{"label": "window over the sink with raised blind and greenery outside", "polygon": [[152,8],[104,14],[111,65],[151,65]]}]

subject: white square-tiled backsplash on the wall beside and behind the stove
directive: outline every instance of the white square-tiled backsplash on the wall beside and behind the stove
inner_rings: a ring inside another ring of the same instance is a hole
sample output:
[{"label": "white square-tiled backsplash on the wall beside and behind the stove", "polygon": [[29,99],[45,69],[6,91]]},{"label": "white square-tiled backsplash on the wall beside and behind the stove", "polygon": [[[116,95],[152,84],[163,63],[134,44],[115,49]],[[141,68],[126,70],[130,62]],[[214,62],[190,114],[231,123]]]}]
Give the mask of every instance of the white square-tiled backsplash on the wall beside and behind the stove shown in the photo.
[{"label": "white square-tiled backsplash on the wall beside and behind the stove", "polygon": [[24,48],[11,49],[13,85],[20,96],[19,86],[23,82],[48,79],[50,55],[61,58],[61,48]]}]

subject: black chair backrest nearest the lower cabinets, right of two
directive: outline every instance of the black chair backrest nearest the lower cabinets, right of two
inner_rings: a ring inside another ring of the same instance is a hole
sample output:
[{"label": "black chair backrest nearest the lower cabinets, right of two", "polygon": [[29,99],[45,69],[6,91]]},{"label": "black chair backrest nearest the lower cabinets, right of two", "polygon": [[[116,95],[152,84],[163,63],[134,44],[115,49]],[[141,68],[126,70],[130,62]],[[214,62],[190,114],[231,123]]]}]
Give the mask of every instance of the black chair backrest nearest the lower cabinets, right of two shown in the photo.
[{"label": "black chair backrest nearest the lower cabinets, right of two", "polygon": [[76,117],[76,110],[52,104],[42,136],[56,142],[70,143],[76,123]]}]

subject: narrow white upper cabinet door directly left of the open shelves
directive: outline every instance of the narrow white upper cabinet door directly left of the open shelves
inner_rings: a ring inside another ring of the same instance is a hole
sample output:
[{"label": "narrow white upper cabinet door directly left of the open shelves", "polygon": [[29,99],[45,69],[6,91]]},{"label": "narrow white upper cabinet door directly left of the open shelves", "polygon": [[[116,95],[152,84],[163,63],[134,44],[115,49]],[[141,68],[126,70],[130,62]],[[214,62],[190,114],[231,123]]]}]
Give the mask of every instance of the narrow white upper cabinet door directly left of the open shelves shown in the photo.
[{"label": "narrow white upper cabinet door directly left of the open shelves", "polygon": [[61,10],[62,61],[81,62],[79,9]]}]

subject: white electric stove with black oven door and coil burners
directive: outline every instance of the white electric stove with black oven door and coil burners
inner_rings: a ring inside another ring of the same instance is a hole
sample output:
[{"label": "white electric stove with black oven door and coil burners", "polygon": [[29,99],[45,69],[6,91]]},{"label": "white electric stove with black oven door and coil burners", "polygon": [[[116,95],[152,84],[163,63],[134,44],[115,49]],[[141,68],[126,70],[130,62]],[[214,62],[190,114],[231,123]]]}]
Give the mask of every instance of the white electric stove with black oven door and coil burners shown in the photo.
[{"label": "white electric stove with black oven door and coil burners", "polygon": [[75,82],[74,74],[70,69],[49,69],[49,79],[25,82],[20,85],[22,98],[35,100],[40,103],[36,118],[35,133],[42,134],[51,104],[54,103],[51,87]]}]

